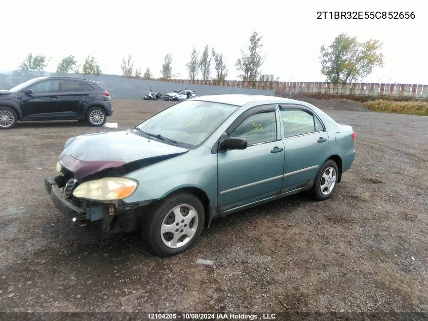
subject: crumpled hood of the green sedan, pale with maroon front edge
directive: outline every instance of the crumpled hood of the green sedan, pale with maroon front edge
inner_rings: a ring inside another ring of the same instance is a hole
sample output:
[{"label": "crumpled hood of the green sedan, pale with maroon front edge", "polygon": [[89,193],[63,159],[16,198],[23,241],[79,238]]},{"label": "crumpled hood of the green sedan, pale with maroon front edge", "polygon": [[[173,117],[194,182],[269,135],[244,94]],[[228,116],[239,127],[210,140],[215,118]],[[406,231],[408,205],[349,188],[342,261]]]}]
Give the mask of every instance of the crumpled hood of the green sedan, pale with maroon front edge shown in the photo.
[{"label": "crumpled hood of the green sedan, pale with maroon front edge", "polygon": [[131,131],[102,132],[68,139],[58,161],[79,180],[106,168],[142,159],[180,155],[187,151]]}]

